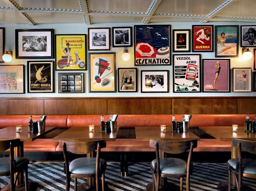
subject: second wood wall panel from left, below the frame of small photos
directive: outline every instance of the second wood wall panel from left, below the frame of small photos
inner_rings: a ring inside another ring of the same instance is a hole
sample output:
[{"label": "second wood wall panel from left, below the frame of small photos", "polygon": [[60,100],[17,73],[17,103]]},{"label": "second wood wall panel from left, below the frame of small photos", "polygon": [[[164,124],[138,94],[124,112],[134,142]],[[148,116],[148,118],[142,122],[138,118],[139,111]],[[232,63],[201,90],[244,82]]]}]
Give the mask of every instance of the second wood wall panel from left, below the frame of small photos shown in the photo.
[{"label": "second wood wall panel from left, below the frame of small photos", "polygon": [[45,99],[45,114],[106,114],[107,99]]}]

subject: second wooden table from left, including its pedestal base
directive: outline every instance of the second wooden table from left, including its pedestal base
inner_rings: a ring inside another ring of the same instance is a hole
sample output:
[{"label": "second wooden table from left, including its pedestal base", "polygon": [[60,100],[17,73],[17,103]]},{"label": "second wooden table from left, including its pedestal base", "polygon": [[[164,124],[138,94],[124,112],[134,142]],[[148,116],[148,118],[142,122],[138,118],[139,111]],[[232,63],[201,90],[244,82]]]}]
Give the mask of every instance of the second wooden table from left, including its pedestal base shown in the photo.
[{"label": "second wooden table from left, including its pedestal base", "polygon": [[[94,127],[94,132],[89,132],[89,127],[71,127],[54,137],[53,141],[95,141],[101,139],[115,141],[118,130],[119,127],[117,127],[116,132],[105,133],[100,131],[100,127]],[[93,157],[93,155],[90,154],[89,157]],[[77,190],[96,190],[94,184],[93,178],[87,178],[87,182],[77,185]],[[108,190],[108,185],[106,183],[104,184],[104,190]]]}]

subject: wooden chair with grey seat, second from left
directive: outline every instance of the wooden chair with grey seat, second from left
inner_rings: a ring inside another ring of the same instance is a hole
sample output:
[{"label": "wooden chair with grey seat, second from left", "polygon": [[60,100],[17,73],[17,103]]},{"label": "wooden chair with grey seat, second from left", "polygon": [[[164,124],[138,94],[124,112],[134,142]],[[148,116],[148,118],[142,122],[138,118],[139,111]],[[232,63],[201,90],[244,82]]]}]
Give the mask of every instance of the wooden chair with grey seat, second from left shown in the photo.
[{"label": "wooden chair with grey seat, second from left", "polygon": [[[106,140],[98,141],[65,141],[60,140],[59,145],[63,148],[64,155],[64,173],[66,174],[66,191],[70,189],[70,177],[74,177],[75,191],[77,190],[77,178],[95,177],[96,191],[99,191],[100,176],[102,178],[102,191],[104,191],[104,172],[107,163],[100,158],[100,149],[106,147]],[[88,157],[90,153],[97,150],[95,157]],[[87,157],[77,158],[69,164],[68,152],[74,154],[87,154]]]}]

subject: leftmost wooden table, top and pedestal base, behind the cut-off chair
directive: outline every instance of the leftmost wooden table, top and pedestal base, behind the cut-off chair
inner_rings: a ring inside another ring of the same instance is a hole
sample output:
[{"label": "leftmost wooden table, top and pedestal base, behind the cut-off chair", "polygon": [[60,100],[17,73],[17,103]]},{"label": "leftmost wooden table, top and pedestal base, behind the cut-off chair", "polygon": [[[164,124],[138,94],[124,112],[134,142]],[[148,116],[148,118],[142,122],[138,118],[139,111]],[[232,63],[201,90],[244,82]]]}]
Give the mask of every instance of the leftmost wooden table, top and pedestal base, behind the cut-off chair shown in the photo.
[{"label": "leftmost wooden table, top and pedestal base, behind the cut-off chair", "polygon": [[[44,138],[45,134],[55,130],[56,127],[46,127],[45,132],[41,133],[31,133],[28,132],[28,127],[22,127],[22,131],[16,133],[16,127],[6,127],[0,129],[0,140],[9,140],[9,139],[20,139],[21,141],[33,141],[38,138]],[[15,150],[15,156],[23,157],[23,150]],[[36,190],[37,183],[29,181],[29,190]],[[1,191],[9,191],[10,184],[1,188]],[[16,185],[16,191],[24,191],[25,184],[23,181],[23,173],[20,173],[20,177],[18,178],[18,185]]]}]

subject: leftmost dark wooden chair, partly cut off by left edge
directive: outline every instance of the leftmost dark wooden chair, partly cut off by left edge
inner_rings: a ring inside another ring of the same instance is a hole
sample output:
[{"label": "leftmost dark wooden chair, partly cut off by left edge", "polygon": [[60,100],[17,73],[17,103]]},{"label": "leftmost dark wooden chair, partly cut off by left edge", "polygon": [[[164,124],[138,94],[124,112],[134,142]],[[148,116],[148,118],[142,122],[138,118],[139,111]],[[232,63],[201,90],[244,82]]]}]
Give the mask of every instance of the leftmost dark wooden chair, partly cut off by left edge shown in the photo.
[{"label": "leftmost dark wooden chair, partly cut off by left edge", "polygon": [[[14,156],[14,148],[21,150],[21,156]],[[23,157],[23,141],[20,139],[0,141],[0,152],[10,149],[9,157],[0,158],[0,176],[10,176],[10,190],[15,191],[20,173],[25,171],[25,190],[28,191],[28,164],[29,160]],[[15,179],[14,174],[17,173]]]}]

